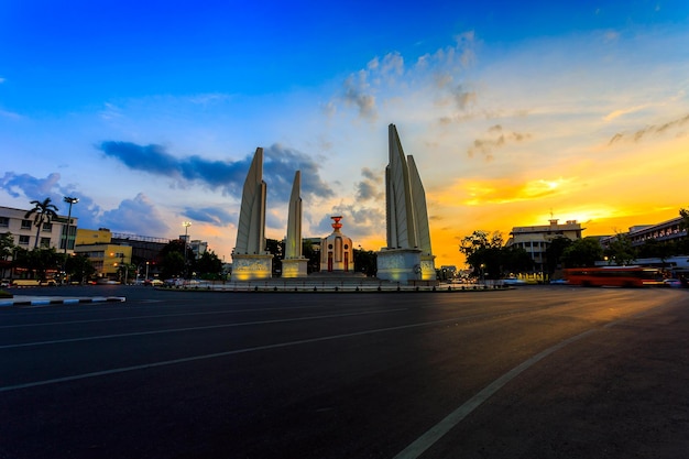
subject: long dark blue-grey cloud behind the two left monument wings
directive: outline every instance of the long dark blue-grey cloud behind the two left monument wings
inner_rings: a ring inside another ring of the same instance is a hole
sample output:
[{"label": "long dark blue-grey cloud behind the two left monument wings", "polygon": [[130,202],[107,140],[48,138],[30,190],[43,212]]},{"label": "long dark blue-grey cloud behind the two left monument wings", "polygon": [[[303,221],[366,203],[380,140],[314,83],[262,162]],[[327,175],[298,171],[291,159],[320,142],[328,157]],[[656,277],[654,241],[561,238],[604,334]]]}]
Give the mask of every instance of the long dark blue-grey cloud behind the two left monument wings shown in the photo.
[{"label": "long dark blue-grey cloud behind the two left monument wings", "polygon": [[[138,145],[130,142],[102,142],[99,145],[106,155],[119,160],[131,170],[161,175],[177,183],[198,183],[210,189],[220,189],[223,195],[241,197],[247,172],[253,153],[236,162],[209,161],[193,155],[177,159],[162,145]],[[274,144],[264,149],[263,178],[269,196],[280,203],[288,199],[294,173],[302,171],[302,193],[313,197],[333,195],[319,176],[319,165],[310,156],[296,150]]]}]

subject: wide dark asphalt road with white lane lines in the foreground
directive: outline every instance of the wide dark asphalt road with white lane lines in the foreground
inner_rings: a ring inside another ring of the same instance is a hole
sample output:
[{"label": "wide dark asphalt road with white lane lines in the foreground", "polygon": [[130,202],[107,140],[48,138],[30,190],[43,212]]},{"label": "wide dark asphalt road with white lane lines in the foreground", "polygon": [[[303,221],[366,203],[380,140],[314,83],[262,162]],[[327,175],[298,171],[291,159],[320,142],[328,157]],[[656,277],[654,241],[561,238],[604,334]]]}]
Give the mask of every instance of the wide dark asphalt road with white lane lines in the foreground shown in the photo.
[{"label": "wide dark asphalt road with white lane lines in the foreground", "polygon": [[34,293],[2,459],[689,457],[686,289]]}]

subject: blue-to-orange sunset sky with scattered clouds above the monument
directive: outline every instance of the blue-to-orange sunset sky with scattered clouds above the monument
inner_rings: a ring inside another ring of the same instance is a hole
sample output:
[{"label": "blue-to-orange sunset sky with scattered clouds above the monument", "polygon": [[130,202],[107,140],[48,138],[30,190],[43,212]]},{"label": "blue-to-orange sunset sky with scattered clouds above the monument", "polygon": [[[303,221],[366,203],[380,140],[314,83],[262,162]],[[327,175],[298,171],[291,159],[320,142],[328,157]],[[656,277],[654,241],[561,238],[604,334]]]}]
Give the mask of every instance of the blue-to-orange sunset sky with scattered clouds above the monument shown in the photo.
[{"label": "blue-to-orange sunset sky with scattered clouds above the monument", "polygon": [[[376,6],[380,3],[380,6]],[[689,207],[689,2],[0,2],[0,205],[76,196],[79,228],[208,241],[226,261],[265,151],[266,237],[302,171],[304,237],[385,244],[387,125],[460,240]]]}]

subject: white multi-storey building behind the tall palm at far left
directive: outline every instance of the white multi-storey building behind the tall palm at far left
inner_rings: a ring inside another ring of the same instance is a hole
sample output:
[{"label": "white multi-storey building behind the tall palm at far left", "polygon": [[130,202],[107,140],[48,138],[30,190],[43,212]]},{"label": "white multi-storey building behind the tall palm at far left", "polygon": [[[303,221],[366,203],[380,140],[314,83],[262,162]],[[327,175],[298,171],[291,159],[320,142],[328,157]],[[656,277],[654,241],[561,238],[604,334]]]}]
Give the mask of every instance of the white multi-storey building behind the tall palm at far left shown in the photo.
[{"label": "white multi-storey building behind the tall palm at far left", "polygon": [[24,216],[29,209],[14,209],[11,207],[0,207],[0,233],[10,232],[14,238],[14,245],[26,250],[34,247],[42,249],[53,248],[58,252],[73,253],[77,218],[58,215],[50,222],[44,222],[39,231],[39,242],[36,244],[36,227],[33,225],[33,215],[29,218]]}]

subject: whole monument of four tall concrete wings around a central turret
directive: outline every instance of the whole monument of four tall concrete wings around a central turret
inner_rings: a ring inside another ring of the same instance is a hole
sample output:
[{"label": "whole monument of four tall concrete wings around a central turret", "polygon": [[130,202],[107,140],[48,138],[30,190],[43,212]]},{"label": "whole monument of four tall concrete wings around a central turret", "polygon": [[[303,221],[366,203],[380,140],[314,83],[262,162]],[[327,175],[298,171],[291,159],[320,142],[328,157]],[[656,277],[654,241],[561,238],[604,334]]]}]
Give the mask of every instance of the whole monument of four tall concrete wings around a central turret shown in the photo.
[{"label": "whole monument of four tall concrete wings around a central turret", "polygon": [[[287,215],[283,278],[305,278],[307,262],[302,254],[300,171],[294,176]],[[242,190],[237,244],[232,252],[232,278],[260,281],[272,277],[273,255],[265,251],[266,184],[263,149],[258,147]],[[436,280],[435,255],[426,193],[412,155],[405,156],[394,124],[389,127],[389,164],[385,167],[386,247],[376,252],[378,278],[398,283]],[[341,232],[342,216],[331,217],[332,233],[321,239],[320,278],[353,274],[352,240]],[[313,275],[313,274],[311,274]]]}]

